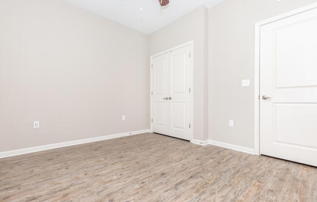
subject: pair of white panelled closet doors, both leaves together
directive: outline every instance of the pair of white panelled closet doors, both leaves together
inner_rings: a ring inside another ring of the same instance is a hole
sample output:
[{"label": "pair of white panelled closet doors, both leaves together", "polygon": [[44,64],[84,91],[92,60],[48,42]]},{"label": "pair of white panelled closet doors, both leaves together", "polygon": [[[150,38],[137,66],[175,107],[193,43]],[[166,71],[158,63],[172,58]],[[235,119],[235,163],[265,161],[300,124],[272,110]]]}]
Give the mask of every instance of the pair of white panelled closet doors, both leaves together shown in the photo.
[{"label": "pair of white panelled closet doors, both leaves together", "polygon": [[152,59],[153,132],[190,140],[190,46]]}]

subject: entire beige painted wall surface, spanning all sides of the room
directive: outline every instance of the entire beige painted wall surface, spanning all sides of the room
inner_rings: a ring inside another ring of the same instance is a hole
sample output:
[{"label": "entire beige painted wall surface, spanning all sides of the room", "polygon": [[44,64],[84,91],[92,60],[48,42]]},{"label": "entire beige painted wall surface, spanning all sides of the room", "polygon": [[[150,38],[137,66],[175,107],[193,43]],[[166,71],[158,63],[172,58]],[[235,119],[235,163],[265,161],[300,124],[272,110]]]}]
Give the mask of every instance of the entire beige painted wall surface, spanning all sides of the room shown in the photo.
[{"label": "entire beige painted wall surface, spanning all sides of the room", "polygon": [[149,56],[191,40],[194,139],[253,148],[254,23],[313,2],[225,0],[147,36],[63,0],[0,0],[0,152],[148,129]]}]

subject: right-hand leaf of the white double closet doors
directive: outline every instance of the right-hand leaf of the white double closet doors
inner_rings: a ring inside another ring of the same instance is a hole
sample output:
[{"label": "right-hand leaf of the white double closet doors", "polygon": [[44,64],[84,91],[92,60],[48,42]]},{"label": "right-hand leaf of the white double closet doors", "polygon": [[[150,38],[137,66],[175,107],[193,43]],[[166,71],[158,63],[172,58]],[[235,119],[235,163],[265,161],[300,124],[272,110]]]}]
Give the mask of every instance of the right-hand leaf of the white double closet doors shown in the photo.
[{"label": "right-hand leaf of the white double closet doors", "polygon": [[169,133],[190,140],[190,46],[169,53]]}]

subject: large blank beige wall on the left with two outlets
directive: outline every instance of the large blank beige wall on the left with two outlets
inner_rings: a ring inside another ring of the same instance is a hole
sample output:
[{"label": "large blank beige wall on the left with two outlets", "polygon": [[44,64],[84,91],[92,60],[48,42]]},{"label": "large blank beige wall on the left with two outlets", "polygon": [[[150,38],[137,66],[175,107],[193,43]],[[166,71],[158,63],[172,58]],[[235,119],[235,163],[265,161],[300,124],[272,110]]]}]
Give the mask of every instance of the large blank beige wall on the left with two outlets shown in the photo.
[{"label": "large blank beige wall on the left with two outlets", "polygon": [[145,34],[62,0],[0,0],[0,152],[149,129],[148,64]]}]

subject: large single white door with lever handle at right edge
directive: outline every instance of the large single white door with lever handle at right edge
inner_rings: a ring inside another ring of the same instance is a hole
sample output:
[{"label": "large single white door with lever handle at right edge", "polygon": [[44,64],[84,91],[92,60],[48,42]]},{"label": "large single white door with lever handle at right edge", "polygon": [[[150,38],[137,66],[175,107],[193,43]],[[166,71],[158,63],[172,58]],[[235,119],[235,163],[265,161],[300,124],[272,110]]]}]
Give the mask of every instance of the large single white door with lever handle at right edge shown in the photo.
[{"label": "large single white door with lever handle at right edge", "polygon": [[260,51],[260,152],[317,166],[317,9],[262,26]]}]

